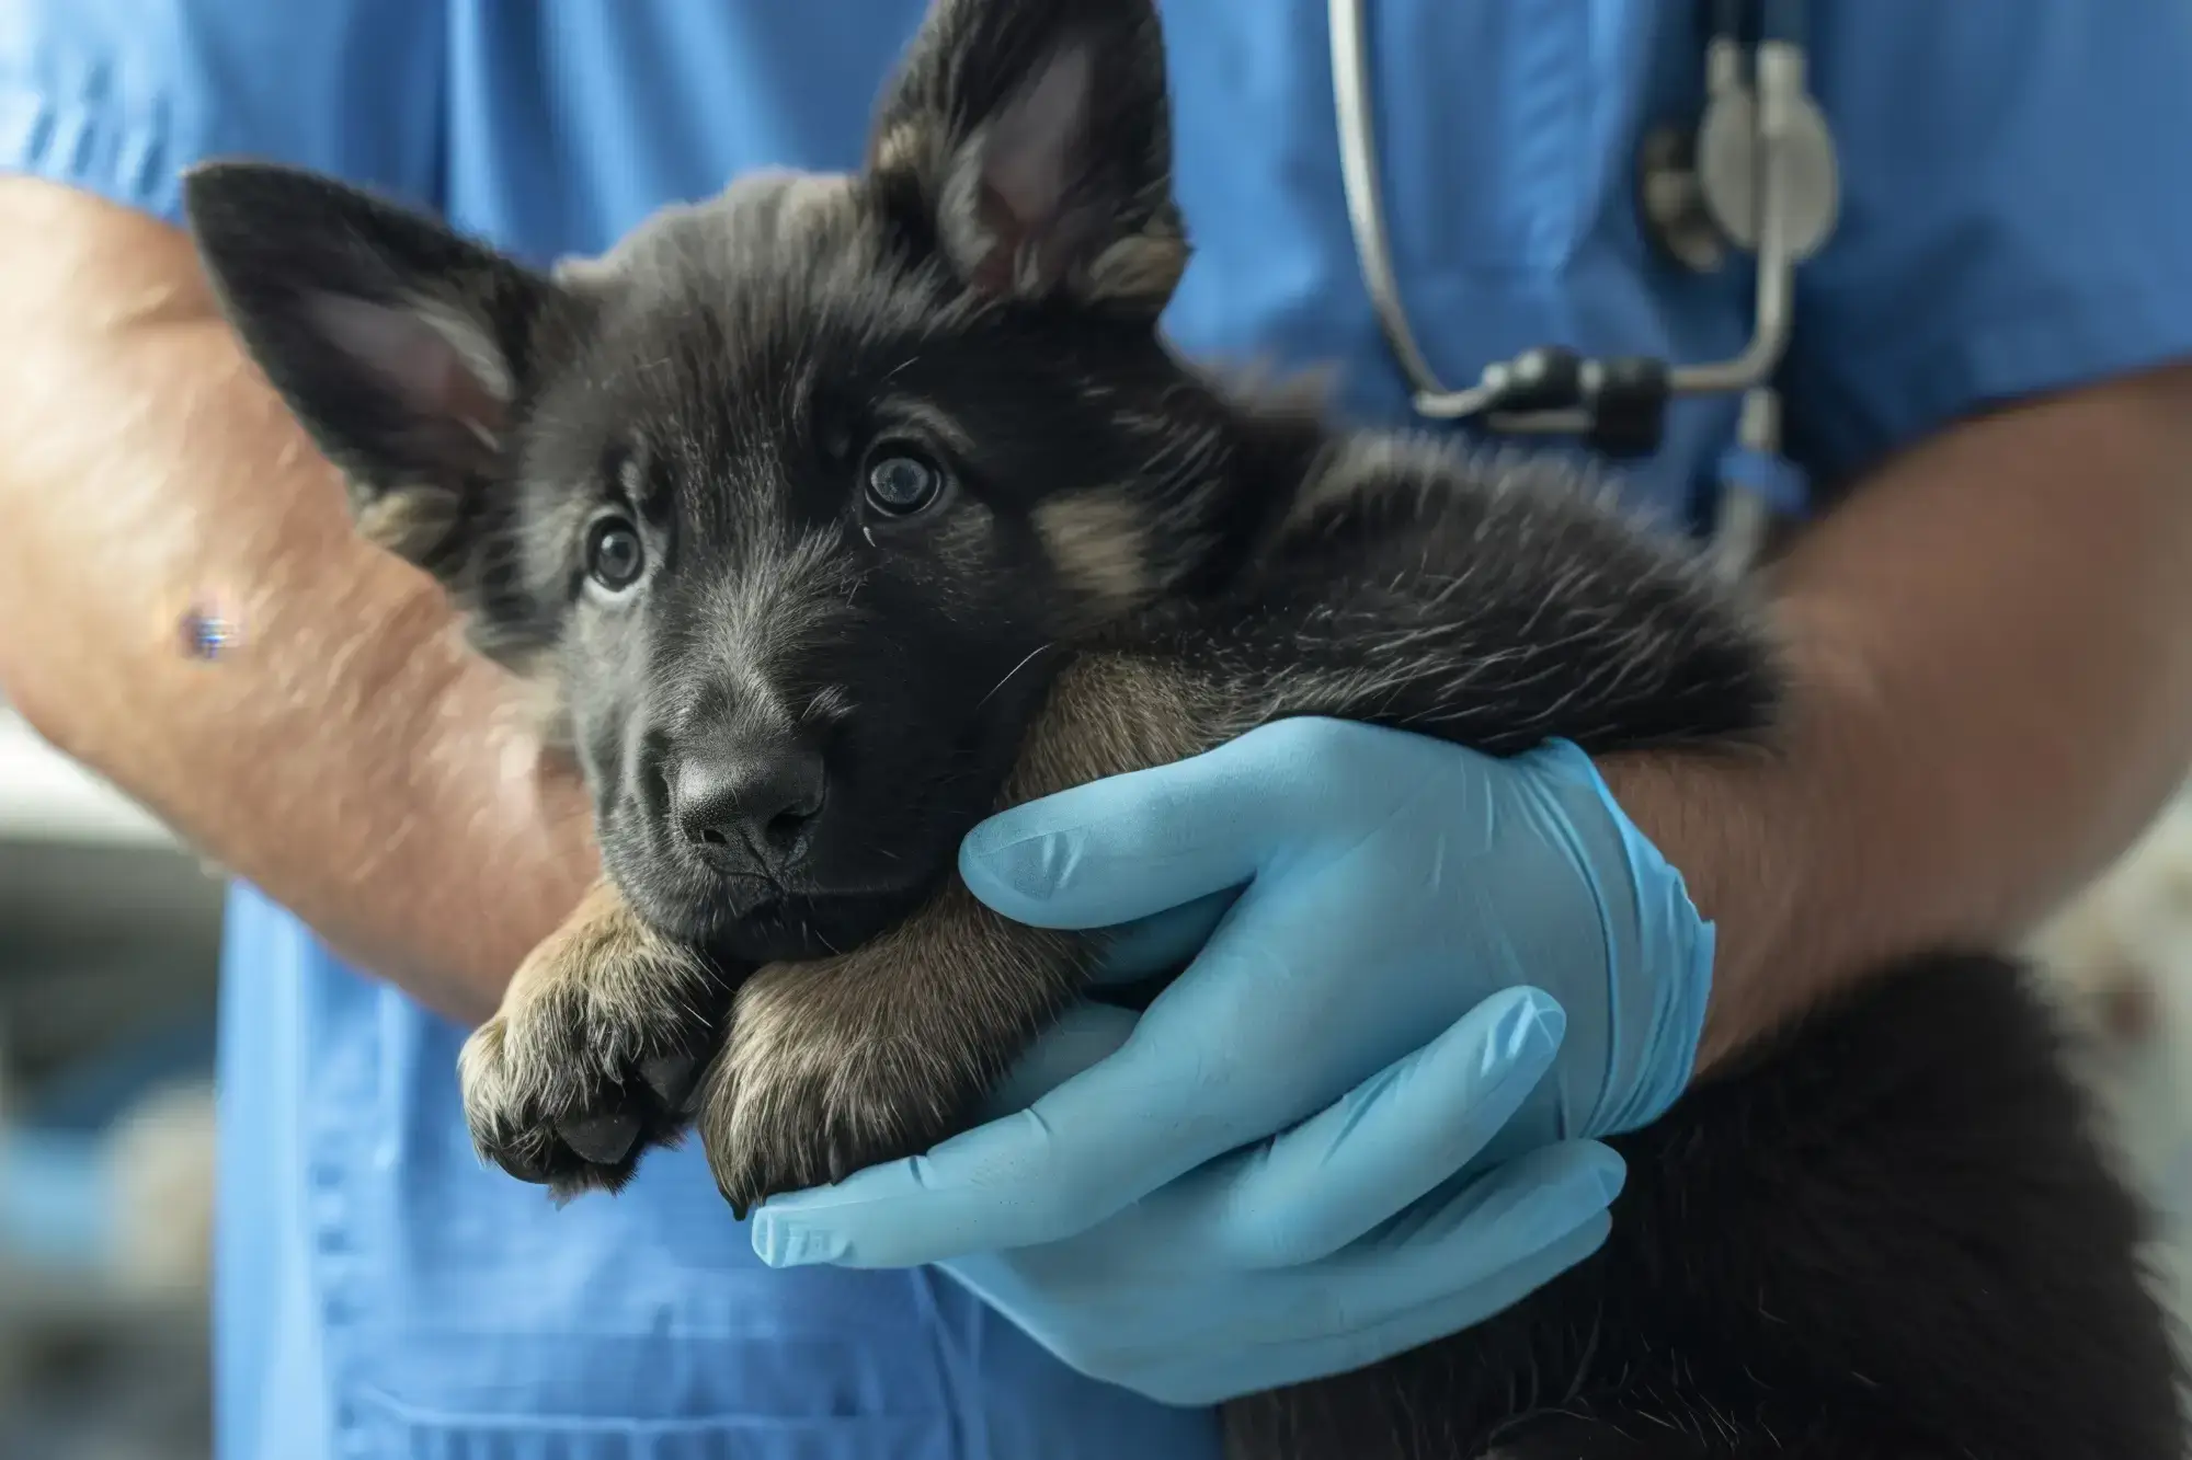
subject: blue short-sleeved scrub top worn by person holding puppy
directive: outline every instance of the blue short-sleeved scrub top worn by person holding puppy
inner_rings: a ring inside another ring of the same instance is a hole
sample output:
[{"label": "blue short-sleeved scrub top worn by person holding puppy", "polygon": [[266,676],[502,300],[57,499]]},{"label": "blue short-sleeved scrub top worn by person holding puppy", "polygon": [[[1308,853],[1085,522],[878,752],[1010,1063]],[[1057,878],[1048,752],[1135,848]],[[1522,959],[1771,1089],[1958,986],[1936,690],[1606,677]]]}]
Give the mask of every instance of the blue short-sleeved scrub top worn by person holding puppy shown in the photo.
[{"label": "blue short-sleeved scrub top worn by person holding puppy", "polygon": [[[0,167],[175,215],[208,153],[311,164],[533,256],[763,164],[848,167],[921,0],[11,0]],[[2096,11],[2104,9],[2102,20]],[[1368,7],[1403,294],[1449,381],[1565,342],[1725,357],[1747,281],[1640,235],[1646,123],[1694,110],[1690,0]],[[2192,2],[1833,0],[1846,213],[1800,285],[1793,438],[1839,478],[1988,401],[2192,353]],[[1190,351],[1405,390],[1363,296],[1324,0],[1173,0]],[[1734,406],[1635,474],[1699,513]],[[563,1212],[482,1171],[460,1030],[232,901],[221,1046],[226,1460],[1203,1460],[925,1271],[767,1271],[693,1153]]]}]

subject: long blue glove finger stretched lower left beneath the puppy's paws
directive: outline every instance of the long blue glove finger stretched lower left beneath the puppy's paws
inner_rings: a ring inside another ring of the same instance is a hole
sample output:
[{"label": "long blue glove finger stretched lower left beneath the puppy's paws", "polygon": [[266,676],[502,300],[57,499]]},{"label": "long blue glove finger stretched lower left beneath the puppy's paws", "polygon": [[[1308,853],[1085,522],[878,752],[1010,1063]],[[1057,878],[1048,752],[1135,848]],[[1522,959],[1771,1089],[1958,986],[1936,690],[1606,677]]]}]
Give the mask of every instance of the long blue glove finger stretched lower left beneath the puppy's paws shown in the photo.
[{"label": "long blue glove finger stretched lower left beneath the puppy's paws", "polygon": [[[1530,1050],[1530,1026],[1556,1006],[1537,989],[1484,1002],[1484,1041]],[[1032,1107],[975,1127],[927,1155],[857,1171],[835,1186],[774,1197],[754,1212],[769,1265],[918,1267],[969,1252],[1057,1243],[1087,1232],[1160,1186],[1276,1122],[1208,1083],[1206,1052],[1127,1043]]]}]

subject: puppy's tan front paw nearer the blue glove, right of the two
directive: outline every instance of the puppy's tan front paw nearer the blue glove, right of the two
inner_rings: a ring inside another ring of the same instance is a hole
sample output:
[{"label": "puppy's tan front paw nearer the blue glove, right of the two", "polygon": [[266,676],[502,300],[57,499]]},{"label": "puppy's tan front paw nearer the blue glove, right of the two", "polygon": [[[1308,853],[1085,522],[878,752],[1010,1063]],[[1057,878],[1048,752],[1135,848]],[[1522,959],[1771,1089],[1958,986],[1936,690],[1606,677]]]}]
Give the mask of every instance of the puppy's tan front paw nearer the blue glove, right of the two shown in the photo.
[{"label": "puppy's tan front paw nearer the blue glove, right of the two", "polygon": [[842,1182],[964,1127],[1000,1057],[910,1019],[877,951],[774,965],[739,989],[695,1098],[717,1186],[743,1219],[763,1197]]}]

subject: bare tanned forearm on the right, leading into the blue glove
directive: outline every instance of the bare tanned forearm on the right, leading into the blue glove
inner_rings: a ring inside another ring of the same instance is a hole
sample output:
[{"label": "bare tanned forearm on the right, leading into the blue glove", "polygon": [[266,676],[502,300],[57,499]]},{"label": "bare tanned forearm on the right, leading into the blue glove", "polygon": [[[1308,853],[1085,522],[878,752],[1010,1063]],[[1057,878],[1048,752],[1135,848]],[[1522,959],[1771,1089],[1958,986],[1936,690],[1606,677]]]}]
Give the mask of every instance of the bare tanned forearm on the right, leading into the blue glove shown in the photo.
[{"label": "bare tanned forearm on the right, leading into the blue glove", "polygon": [[1881,962],[2001,947],[2192,754],[2192,368],[1951,427],[1767,579],[1797,669],[1756,761],[1609,761],[1721,949],[1701,1068]]}]

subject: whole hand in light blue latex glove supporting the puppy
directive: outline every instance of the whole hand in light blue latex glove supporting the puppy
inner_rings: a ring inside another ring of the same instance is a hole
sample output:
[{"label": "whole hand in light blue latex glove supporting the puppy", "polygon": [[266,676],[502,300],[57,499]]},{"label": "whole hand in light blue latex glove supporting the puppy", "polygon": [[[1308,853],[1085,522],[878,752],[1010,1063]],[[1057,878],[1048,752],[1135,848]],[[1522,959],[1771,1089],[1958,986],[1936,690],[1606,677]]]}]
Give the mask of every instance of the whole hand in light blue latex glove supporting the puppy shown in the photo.
[{"label": "whole hand in light blue latex glove supporting the puppy", "polygon": [[1131,925],[1122,971],[1208,943],[1138,1022],[1068,1019],[1019,1114],[772,1199],[754,1247],[945,1263],[1157,1399],[1339,1372],[1526,1296],[1605,1239],[1620,1162],[1589,1138],[1694,1061],[1712,929],[1572,745],[1280,721],[993,818],[960,870],[1026,923]]}]

